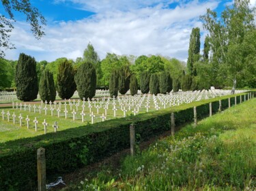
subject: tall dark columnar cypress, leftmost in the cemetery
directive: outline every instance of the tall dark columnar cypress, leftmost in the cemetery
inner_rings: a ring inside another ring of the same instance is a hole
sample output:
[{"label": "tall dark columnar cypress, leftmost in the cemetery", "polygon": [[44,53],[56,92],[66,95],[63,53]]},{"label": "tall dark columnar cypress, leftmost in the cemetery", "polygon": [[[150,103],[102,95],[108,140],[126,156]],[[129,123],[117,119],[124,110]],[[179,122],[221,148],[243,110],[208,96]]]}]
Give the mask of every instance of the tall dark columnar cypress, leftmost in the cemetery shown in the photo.
[{"label": "tall dark columnar cypress, leftmost in the cemetery", "polygon": [[35,58],[21,53],[16,65],[15,82],[17,97],[21,101],[31,101],[38,97],[38,76]]}]

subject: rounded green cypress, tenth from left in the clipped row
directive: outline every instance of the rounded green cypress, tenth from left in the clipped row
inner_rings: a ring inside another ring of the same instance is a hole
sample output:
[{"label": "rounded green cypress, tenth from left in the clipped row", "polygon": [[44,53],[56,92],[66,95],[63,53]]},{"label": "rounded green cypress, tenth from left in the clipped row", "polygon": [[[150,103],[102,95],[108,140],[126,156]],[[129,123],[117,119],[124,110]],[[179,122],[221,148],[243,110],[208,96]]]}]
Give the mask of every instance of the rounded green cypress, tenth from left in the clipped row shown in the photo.
[{"label": "rounded green cypress, tenth from left in the clipped row", "polygon": [[166,94],[167,92],[171,92],[173,88],[171,76],[169,72],[162,71],[159,74],[159,90],[161,94]]}]

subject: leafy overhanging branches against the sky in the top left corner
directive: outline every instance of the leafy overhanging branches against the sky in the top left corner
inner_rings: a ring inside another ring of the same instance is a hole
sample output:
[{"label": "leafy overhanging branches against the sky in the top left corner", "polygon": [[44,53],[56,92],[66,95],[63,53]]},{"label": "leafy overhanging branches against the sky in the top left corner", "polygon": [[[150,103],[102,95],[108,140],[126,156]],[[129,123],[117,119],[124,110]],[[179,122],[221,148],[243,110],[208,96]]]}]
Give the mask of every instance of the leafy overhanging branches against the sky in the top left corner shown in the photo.
[{"label": "leafy overhanging branches against the sky in the top left corner", "polygon": [[8,14],[8,18],[3,14],[0,16],[0,57],[5,56],[3,48],[13,49],[14,44],[10,43],[10,33],[12,29],[14,29],[13,22],[14,13],[13,12],[21,12],[25,14],[27,17],[27,22],[31,25],[31,31],[36,39],[40,39],[44,36],[43,25],[46,25],[46,20],[42,14],[38,11],[37,8],[31,6],[29,0],[21,1],[21,0],[4,0],[1,1],[5,12]]}]

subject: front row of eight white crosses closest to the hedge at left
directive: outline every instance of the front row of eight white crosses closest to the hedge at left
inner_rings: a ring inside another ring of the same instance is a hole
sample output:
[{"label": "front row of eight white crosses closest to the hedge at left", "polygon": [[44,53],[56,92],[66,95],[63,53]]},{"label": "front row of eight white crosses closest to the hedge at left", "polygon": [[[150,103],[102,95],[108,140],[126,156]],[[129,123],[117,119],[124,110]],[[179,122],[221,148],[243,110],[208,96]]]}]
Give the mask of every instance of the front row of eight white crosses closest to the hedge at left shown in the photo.
[{"label": "front row of eight white crosses closest to the hedge at left", "polygon": [[[2,120],[5,120],[5,111],[2,110],[1,114],[2,114]],[[7,116],[8,122],[10,122],[10,116],[11,116],[10,111],[6,112],[6,116]],[[22,124],[23,124],[23,116],[20,114],[18,116],[18,119],[19,119],[20,126],[22,126]],[[29,116],[27,116],[27,118],[25,118],[25,120],[26,120],[27,128],[29,128],[29,121],[30,121]],[[15,113],[12,114],[12,121],[13,121],[13,124],[16,124],[16,114]],[[35,124],[35,131],[38,131],[38,120],[37,120],[36,117],[33,120],[33,123]],[[48,126],[48,123],[46,122],[45,119],[44,119],[44,122],[42,122],[42,125],[44,126],[44,134],[46,134],[46,128]],[[54,128],[54,131],[57,132],[57,128],[59,128],[59,126],[57,125],[57,122],[54,122],[53,128]]]}]

